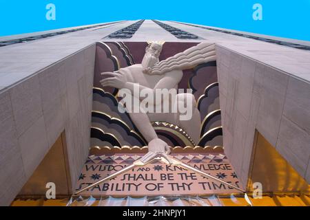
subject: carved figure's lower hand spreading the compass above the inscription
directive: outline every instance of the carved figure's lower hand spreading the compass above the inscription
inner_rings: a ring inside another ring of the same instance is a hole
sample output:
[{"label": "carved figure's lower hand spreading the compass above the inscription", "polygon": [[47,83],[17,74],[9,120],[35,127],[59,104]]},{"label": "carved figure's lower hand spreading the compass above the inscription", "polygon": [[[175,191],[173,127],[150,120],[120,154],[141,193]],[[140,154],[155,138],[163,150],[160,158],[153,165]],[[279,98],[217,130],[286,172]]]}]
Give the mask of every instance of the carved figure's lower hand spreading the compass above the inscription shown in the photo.
[{"label": "carved figure's lower hand spreading the compass above the inscription", "polygon": [[166,142],[156,138],[149,142],[149,152],[141,158],[141,162],[147,163],[155,157],[165,157],[169,164],[172,164],[172,160],[169,158],[170,148]]}]

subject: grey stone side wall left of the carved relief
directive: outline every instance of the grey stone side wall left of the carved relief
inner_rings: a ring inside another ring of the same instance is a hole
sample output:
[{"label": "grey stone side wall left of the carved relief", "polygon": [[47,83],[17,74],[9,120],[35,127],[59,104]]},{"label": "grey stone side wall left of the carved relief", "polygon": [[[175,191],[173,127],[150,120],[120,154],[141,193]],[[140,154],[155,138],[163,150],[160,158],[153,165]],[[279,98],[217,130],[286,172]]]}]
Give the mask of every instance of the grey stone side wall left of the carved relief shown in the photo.
[{"label": "grey stone side wall left of the carved relief", "polygon": [[0,205],[65,131],[72,189],[90,145],[95,44],[0,92]]}]

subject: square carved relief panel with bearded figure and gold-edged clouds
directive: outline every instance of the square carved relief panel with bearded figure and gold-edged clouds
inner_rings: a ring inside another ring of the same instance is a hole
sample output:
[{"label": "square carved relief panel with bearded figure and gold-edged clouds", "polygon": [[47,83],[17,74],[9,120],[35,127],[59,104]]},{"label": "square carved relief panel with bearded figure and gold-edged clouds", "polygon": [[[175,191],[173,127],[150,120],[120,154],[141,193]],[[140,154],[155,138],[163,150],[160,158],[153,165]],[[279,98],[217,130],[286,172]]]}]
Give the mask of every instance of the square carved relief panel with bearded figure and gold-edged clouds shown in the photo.
[{"label": "square carved relief panel with bearded figure and gold-edged clouds", "polygon": [[[112,85],[109,78],[114,76],[109,72],[123,72],[127,83],[142,87],[154,89],[161,82],[159,87],[183,89],[174,99],[192,100],[191,120],[179,120],[178,112],[147,113],[148,124],[139,122],[141,114],[120,112],[119,89]],[[214,45],[97,43],[91,146],[145,146],[155,135],[168,146],[223,145]]]}]

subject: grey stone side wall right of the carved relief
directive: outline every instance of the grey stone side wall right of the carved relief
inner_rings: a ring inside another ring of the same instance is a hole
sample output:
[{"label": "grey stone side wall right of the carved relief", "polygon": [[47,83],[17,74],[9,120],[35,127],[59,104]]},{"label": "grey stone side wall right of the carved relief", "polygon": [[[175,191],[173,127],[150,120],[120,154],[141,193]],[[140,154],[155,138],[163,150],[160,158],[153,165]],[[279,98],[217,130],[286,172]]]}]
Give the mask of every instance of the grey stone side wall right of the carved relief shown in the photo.
[{"label": "grey stone side wall right of the carved relief", "polygon": [[223,145],[243,186],[256,130],[310,183],[309,82],[227,47],[216,52]]}]

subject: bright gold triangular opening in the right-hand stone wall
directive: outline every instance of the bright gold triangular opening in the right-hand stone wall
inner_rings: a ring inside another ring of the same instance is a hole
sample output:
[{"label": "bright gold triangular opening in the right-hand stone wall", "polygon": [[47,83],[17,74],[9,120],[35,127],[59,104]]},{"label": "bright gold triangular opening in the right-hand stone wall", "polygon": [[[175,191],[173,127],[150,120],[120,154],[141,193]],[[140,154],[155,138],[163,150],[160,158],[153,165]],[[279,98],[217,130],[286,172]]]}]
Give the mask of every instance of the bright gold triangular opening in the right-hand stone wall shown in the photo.
[{"label": "bright gold triangular opening in the right-hand stone wall", "polygon": [[263,192],[309,192],[307,184],[298,172],[276,151],[258,131],[254,139],[247,189],[253,191],[253,183],[260,182]]}]

